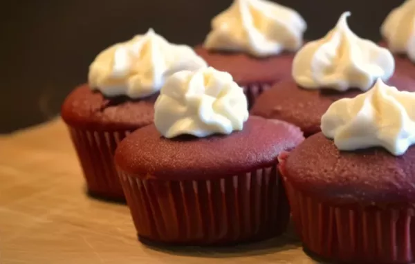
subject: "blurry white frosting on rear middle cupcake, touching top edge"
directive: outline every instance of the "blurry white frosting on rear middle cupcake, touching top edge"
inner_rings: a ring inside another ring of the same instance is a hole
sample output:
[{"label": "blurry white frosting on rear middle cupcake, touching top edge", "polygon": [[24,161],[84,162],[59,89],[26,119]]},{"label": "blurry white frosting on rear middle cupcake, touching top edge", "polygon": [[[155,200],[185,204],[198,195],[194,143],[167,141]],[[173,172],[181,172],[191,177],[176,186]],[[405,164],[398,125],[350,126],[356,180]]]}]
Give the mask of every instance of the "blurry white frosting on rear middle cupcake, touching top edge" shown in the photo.
[{"label": "blurry white frosting on rear middle cupcake, touching top edge", "polygon": [[266,0],[234,0],[212,20],[205,48],[250,53],[257,57],[296,51],[307,25],[293,9]]}]

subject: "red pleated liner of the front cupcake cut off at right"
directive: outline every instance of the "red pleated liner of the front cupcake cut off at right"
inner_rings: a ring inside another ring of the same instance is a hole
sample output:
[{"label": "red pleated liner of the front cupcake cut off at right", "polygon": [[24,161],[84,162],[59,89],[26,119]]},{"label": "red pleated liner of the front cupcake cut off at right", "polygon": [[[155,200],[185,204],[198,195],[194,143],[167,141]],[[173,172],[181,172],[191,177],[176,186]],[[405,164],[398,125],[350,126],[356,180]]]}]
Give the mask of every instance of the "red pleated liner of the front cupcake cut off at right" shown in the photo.
[{"label": "red pleated liner of the front cupcake cut off at right", "polygon": [[415,261],[413,209],[329,205],[298,191],[286,178],[284,183],[297,232],[317,256],[345,263]]}]

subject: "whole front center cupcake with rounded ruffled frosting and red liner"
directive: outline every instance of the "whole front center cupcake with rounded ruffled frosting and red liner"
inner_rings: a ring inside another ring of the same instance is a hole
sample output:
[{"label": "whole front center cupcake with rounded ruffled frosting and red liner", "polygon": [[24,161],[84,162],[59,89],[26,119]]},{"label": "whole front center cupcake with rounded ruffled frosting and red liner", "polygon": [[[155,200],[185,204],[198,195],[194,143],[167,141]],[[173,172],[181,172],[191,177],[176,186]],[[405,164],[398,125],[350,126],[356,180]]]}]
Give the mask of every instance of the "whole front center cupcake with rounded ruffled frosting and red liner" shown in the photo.
[{"label": "whole front center cupcake with rounded ruffled frosting and red liner", "polygon": [[141,241],[224,245],[284,232],[277,155],[302,142],[286,122],[249,117],[232,76],[213,68],[167,79],[154,124],[120,142],[116,164]]}]

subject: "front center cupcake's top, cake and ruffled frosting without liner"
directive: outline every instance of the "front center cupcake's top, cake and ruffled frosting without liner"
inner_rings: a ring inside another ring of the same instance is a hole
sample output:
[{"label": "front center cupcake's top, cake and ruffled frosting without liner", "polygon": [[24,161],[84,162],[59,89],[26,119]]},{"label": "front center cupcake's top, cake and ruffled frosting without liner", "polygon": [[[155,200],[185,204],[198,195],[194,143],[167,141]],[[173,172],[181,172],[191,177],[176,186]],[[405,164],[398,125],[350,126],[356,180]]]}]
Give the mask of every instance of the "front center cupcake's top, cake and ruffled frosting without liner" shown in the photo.
[{"label": "front center cupcake's top, cake and ruffled frosting without liner", "polygon": [[215,179],[271,167],[303,140],[286,122],[249,117],[242,88],[214,68],[167,80],[154,124],[122,140],[116,163],[140,177]]}]

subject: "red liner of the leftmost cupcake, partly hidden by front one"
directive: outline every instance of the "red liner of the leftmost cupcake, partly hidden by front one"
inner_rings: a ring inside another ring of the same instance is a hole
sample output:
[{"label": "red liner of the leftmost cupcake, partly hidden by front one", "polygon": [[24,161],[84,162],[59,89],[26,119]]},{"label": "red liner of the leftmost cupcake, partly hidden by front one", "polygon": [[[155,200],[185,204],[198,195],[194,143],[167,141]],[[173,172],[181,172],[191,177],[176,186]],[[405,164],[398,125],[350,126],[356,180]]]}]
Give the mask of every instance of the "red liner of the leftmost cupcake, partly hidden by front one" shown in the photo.
[{"label": "red liner of the leftmost cupcake, partly hidden by front one", "polygon": [[118,143],[131,131],[90,131],[69,127],[89,194],[124,200],[113,155]]}]

